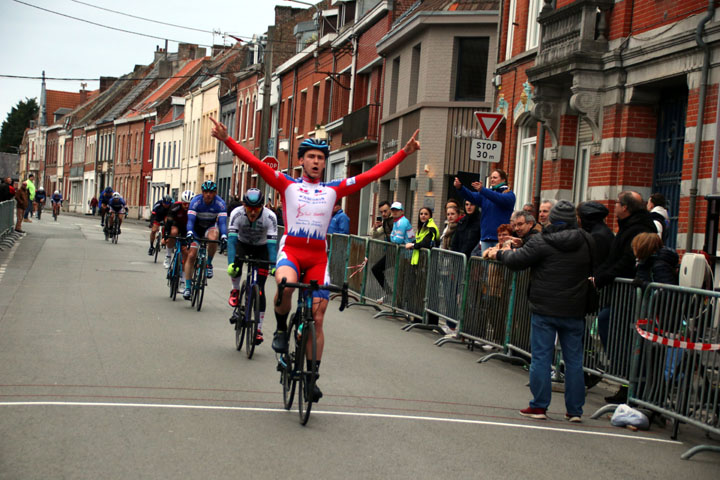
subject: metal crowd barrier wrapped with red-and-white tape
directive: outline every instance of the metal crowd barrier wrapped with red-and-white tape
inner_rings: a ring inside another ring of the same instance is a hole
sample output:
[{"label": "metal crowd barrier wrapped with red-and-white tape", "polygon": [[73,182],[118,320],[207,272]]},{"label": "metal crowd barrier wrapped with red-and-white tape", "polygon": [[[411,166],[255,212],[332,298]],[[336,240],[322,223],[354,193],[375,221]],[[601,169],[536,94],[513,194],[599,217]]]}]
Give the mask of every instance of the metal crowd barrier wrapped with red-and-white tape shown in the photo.
[{"label": "metal crowd barrier wrapped with red-and-white tape", "polygon": [[[637,316],[629,402],[720,435],[720,292],[652,283]],[[641,337],[642,335],[642,337]],[[698,445],[682,455],[720,452]]]}]

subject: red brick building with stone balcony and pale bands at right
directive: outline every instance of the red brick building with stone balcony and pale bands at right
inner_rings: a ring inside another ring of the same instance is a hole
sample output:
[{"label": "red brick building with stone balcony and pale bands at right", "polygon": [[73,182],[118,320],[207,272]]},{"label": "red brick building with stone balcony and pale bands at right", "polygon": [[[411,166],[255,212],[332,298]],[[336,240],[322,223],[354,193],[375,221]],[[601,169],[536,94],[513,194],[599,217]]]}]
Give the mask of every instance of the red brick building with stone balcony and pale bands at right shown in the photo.
[{"label": "red brick building with stone balcony and pale bands at right", "polygon": [[668,243],[703,248],[704,196],[718,192],[713,3],[504,2],[497,109],[518,204],[598,200],[612,219],[620,191],[661,192]]}]

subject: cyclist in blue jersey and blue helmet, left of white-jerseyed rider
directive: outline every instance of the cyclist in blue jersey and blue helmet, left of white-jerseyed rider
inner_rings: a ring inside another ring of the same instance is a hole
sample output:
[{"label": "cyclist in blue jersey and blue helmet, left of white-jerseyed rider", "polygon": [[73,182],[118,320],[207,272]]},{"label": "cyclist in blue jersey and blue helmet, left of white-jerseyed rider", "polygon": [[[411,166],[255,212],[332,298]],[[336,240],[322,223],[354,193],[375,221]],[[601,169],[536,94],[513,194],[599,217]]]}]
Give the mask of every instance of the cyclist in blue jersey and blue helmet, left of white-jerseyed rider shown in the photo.
[{"label": "cyclist in blue jersey and blue helmet, left of white-jerseyed rider", "polygon": [[[195,268],[195,258],[200,244],[197,243],[198,238],[207,238],[208,240],[218,240],[218,229],[220,229],[220,240],[227,241],[227,207],[222,198],[217,194],[217,184],[212,180],[205,180],[200,187],[202,194],[196,195],[190,201],[188,208],[187,221],[187,238],[190,242],[190,250],[188,251],[188,259],[185,262],[185,291],[183,298],[190,300],[192,290],[190,283],[192,271]],[[207,278],[213,277],[212,259],[217,251],[217,244],[208,245],[208,266]]]}]

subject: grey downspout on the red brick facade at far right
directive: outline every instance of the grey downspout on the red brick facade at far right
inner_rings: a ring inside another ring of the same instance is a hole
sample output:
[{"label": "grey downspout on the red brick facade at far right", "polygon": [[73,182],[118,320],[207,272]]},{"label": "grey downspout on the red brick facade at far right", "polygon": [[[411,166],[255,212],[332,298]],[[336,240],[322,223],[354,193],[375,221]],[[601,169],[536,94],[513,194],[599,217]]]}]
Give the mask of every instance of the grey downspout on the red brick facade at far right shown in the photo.
[{"label": "grey downspout on the red brick facade at far right", "polygon": [[705,24],[715,15],[715,0],[708,0],[707,14],[700,20],[695,31],[695,41],[703,49],[703,66],[700,80],[700,98],[698,99],[698,121],[695,128],[695,148],[693,150],[692,179],[690,180],[690,208],[688,211],[688,232],[685,241],[685,251],[692,251],[693,235],[695,233],[695,209],[697,208],[698,171],[700,168],[700,148],[702,145],[703,120],[705,117],[705,100],[707,97],[707,82],[710,74],[710,47],[702,39]]}]

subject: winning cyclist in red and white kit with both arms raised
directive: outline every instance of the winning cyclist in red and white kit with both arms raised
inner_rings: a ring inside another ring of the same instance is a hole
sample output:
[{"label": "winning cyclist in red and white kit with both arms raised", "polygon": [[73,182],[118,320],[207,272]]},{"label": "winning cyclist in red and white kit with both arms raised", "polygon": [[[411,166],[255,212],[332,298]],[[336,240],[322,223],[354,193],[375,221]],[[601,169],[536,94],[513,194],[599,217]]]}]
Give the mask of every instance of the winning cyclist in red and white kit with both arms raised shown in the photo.
[{"label": "winning cyclist in red and white kit with both arms raised", "polygon": [[[359,191],[370,182],[391,172],[405,157],[420,149],[417,141],[419,130],[408,140],[402,150],[387,160],[378,163],[370,170],[355,177],[321,182],[325,160],[330,153],[326,142],[306,139],[298,147],[298,158],[303,168],[302,178],[292,178],[265,165],[245,147],[239,145],[228,136],[227,128],[210,117],[215,125],[212,136],[225,143],[243,162],[250,165],[268,185],[282,197],[285,235],[280,240],[277,257],[275,280],[280,283],[286,279],[296,283],[301,274],[303,283],[316,280],[320,285],[329,283],[327,269],[327,235],[335,202],[344,196]],[[280,306],[275,307],[277,330],[273,337],[273,350],[287,352],[287,317],[292,307],[293,289],[286,288]],[[329,294],[327,290],[313,292],[313,319],[317,335],[317,368],[320,366],[325,336],[323,318],[327,309]],[[276,299],[277,302],[277,299]],[[312,352],[308,349],[308,355]],[[308,360],[308,363],[310,361]],[[315,384],[313,401],[322,397],[322,392]]]}]

